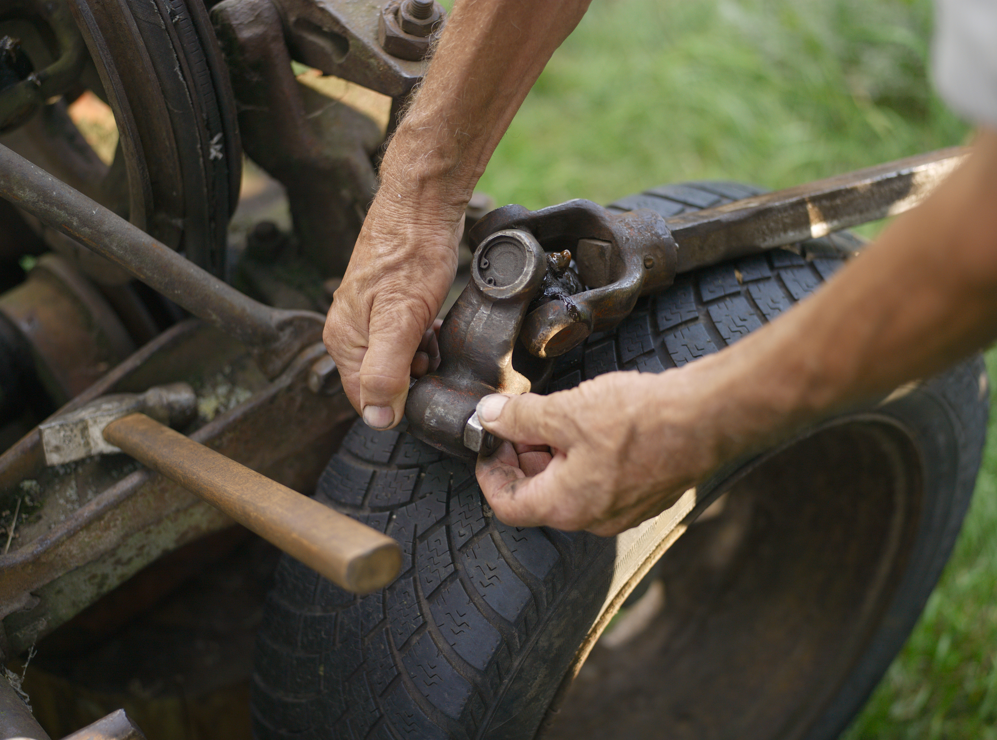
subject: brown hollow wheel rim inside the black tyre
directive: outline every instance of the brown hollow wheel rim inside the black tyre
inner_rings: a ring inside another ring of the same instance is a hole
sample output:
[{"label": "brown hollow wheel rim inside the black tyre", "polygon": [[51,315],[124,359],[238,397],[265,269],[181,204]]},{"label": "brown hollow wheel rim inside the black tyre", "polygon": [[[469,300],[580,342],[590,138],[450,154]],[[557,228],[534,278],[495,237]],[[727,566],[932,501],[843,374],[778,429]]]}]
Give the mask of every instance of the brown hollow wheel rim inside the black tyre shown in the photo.
[{"label": "brown hollow wheel rim inside the black tyre", "polygon": [[753,467],[662,557],[661,613],[596,645],[543,737],[803,736],[895,593],[921,470],[911,435],[870,416]]}]

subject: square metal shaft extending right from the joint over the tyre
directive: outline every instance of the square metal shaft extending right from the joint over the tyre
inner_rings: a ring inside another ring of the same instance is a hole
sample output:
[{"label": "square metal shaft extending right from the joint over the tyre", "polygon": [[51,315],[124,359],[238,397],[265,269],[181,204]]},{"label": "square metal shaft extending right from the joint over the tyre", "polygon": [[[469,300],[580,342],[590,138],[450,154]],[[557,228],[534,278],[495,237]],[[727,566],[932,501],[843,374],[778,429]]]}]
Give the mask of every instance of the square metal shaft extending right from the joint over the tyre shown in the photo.
[{"label": "square metal shaft extending right from the joint over the tyre", "polygon": [[902,213],[927,197],[967,153],[943,149],[667,218],[679,245],[678,271]]}]

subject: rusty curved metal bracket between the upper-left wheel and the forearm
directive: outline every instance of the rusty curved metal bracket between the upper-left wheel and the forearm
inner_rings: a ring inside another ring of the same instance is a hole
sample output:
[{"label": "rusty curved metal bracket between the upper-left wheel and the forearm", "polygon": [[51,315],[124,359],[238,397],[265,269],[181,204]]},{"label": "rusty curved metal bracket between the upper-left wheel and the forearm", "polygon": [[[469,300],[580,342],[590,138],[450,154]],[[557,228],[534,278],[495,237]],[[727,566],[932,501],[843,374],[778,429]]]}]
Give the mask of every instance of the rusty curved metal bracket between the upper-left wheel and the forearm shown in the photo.
[{"label": "rusty curved metal bracket between the upper-left wheel and the forearm", "polygon": [[[232,74],[245,153],[287,190],[300,248],[323,277],[342,275],[377,190],[377,125],[294,78],[270,0],[223,0],[211,10]],[[247,263],[243,261],[243,269]]]}]

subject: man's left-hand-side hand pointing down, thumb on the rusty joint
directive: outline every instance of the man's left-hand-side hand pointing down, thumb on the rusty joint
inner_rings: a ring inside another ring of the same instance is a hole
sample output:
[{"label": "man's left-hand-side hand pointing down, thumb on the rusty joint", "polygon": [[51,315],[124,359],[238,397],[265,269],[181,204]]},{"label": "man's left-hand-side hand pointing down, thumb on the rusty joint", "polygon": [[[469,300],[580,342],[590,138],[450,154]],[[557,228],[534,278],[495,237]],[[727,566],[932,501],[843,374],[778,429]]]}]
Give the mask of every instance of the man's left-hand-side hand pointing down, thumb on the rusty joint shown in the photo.
[{"label": "man's left-hand-side hand pointing down, thumb on the rusty joint", "polygon": [[[410,209],[390,199],[379,198],[367,214],[323,335],[346,394],[375,429],[401,421],[409,376],[440,364],[434,320],[454,281],[464,228],[463,203]],[[405,218],[413,212],[422,219]]]}]

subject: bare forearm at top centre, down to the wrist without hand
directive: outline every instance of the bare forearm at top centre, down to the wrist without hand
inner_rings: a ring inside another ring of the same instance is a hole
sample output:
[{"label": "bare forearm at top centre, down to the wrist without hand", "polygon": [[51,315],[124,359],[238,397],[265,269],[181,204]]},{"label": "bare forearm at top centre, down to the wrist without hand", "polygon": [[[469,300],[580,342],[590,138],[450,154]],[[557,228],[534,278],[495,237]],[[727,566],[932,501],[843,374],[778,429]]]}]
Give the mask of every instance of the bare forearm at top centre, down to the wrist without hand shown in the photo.
[{"label": "bare forearm at top centre, down to the wrist without hand", "polygon": [[457,0],[392,139],[382,190],[462,206],[587,0]]}]

